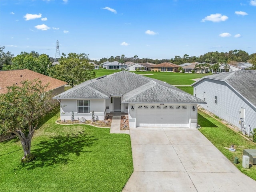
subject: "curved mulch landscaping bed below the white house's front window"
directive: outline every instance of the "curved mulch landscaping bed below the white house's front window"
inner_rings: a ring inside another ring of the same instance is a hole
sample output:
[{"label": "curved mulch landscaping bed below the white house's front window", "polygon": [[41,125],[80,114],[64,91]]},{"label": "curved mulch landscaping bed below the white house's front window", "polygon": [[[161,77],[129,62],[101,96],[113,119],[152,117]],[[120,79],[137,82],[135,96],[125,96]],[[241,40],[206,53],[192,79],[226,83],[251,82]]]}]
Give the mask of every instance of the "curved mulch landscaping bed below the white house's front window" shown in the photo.
[{"label": "curved mulch landscaping bed below the white house's front window", "polygon": [[78,120],[65,120],[65,121],[60,121],[60,120],[57,120],[56,121],[57,123],[59,124],[88,124],[88,125],[94,125],[96,127],[110,127],[111,126],[111,122],[112,122],[112,116],[108,116],[105,118],[104,121],[100,121],[100,120],[95,120],[95,121],[92,121],[92,120],[86,120],[86,122],[80,122]]}]

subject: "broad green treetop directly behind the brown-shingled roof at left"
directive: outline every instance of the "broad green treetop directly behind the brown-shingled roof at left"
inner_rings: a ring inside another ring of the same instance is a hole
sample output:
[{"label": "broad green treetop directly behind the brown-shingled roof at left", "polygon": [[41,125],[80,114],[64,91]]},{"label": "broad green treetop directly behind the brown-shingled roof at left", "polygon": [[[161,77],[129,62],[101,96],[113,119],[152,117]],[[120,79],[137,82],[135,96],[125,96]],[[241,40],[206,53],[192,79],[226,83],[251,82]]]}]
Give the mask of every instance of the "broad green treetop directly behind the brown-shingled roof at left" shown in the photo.
[{"label": "broad green treetop directly behind the brown-shingled roof at left", "polygon": [[50,66],[50,58],[46,54],[39,55],[37,52],[21,52],[20,55],[12,58],[12,64],[4,64],[3,70],[29,69],[40,74],[48,75],[47,69]]}]

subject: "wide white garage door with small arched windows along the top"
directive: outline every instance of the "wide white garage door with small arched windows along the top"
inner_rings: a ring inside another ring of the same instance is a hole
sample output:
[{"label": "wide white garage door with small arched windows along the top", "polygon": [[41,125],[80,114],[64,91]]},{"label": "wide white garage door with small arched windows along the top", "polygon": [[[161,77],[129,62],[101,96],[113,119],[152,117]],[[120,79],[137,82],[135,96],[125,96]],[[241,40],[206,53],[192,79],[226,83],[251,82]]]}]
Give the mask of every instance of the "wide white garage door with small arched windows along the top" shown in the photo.
[{"label": "wide white garage door with small arched windows along the top", "polygon": [[137,127],[188,127],[185,105],[142,105],[136,109]]}]

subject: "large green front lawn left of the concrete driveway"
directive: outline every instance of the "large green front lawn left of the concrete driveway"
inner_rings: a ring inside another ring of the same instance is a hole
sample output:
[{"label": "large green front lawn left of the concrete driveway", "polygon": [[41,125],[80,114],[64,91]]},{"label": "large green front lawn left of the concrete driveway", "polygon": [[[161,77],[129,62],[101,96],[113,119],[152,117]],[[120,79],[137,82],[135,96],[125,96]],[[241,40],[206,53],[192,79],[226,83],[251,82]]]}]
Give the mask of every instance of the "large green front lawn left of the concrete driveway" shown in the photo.
[{"label": "large green front lawn left of the concrete driveway", "polygon": [[109,128],[58,125],[57,119],[46,119],[36,130],[33,162],[21,163],[18,139],[0,143],[0,191],[122,191],[133,172],[130,136],[109,134]]}]

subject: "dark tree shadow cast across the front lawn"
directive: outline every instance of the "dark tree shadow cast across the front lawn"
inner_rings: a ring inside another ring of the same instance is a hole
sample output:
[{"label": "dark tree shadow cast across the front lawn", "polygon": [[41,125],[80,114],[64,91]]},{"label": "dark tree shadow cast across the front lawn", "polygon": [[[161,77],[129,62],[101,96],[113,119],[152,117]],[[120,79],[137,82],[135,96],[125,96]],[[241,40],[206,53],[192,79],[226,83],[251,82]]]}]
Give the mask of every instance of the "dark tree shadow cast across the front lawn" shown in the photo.
[{"label": "dark tree shadow cast across the front lawn", "polygon": [[54,166],[55,164],[68,164],[72,159],[70,154],[80,156],[84,152],[92,152],[84,150],[95,144],[98,140],[95,136],[89,136],[80,132],[69,136],[54,136],[47,141],[41,141],[34,147],[38,147],[31,151],[35,156],[32,162],[21,163],[20,168],[31,170],[38,167]]}]

